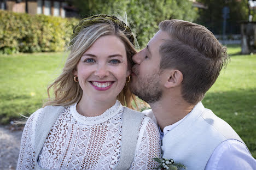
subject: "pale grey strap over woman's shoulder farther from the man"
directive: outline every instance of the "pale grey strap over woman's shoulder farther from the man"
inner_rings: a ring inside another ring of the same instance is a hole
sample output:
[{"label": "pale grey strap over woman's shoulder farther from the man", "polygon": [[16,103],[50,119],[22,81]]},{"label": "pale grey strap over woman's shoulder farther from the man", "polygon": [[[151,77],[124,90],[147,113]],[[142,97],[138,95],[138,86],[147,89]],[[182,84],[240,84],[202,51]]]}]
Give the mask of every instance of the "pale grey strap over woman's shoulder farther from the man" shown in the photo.
[{"label": "pale grey strap over woman's shoulder farther from the man", "polygon": [[36,162],[39,153],[44,145],[45,139],[48,136],[51,127],[53,127],[59,114],[63,111],[63,106],[45,106],[40,114],[35,133],[35,151],[36,151]]}]

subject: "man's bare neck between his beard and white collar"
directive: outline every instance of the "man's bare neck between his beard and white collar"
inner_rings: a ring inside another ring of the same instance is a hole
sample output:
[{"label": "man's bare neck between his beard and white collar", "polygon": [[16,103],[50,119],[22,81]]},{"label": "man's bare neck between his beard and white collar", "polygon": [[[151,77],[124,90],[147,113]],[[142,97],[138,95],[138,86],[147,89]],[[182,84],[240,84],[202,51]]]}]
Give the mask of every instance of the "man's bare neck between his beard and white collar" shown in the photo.
[{"label": "man's bare neck between his beard and white collar", "polygon": [[188,104],[184,100],[164,100],[161,99],[154,104],[149,104],[161,130],[172,125],[185,116],[195,105]]}]

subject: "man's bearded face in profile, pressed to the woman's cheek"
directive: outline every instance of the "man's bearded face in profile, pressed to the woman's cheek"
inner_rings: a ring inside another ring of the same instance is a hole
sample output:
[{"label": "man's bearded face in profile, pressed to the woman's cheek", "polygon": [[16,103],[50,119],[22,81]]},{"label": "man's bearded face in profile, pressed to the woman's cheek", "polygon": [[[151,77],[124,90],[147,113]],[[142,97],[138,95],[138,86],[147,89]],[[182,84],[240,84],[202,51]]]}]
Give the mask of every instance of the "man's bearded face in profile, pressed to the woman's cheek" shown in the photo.
[{"label": "man's bearded face in profile, pressed to the woman's cheek", "polygon": [[160,100],[162,96],[159,48],[168,37],[166,32],[160,30],[146,48],[132,57],[135,65],[131,74],[131,91],[149,104]]}]

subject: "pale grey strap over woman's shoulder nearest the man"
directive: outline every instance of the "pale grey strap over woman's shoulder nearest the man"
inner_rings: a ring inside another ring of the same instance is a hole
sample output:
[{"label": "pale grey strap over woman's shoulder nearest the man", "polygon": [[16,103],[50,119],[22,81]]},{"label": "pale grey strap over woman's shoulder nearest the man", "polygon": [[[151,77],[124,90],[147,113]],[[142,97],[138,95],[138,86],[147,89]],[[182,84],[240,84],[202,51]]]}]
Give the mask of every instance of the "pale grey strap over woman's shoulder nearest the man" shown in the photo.
[{"label": "pale grey strap over woman's shoulder nearest the man", "polygon": [[115,170],[129,169],[135,156],[139,125],[144,114],[124,107],[121,155]]}]

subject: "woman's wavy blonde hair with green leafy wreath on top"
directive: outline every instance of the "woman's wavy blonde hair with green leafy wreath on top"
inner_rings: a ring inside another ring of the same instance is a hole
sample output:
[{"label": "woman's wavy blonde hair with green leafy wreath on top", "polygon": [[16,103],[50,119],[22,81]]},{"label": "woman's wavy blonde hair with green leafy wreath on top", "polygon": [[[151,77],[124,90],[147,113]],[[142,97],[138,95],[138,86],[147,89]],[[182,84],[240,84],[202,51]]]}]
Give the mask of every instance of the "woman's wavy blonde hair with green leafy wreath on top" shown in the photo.
[{"label": "woman's wavy blonde hair with green leafy wreath on top", "polygon": [[[94,15],[85,18],[73,29],[71,41],[68,46],[68,50],[70,50],[69,56],[60,76],[48,87],[49,101],[45,102],[43,107],[47,105],[69,106],[80,101],[83,90],[79,86],[79,83],[74,82],[73,72],[83,53],[98,38],[104,35],[115,35],[123,41],[126,48],[128,67],[131,69],[132,56],[136,53],[138,43],[127,22],[109,15]],[[50,98],[50,90],[53,90],[54,98]],[[129,83],[125,84],[117,99],[122,105],[133,108],[132,100],[135,101],[135,104],[136,100],[135,95],[130,91]]]}]

